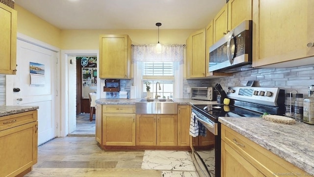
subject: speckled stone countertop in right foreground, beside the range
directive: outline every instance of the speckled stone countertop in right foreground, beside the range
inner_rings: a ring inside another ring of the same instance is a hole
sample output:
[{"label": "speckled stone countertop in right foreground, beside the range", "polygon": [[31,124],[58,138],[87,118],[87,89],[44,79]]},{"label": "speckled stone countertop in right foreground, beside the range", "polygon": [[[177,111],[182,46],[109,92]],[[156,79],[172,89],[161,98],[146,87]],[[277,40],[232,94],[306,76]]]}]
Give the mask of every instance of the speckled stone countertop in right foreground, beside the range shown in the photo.
[{"label": "speckled stone countertop in right foreground, beside the range", "polygon": [[314,175],[314,125],[273,123],[263,118],[219,117],[219,122]]}]

